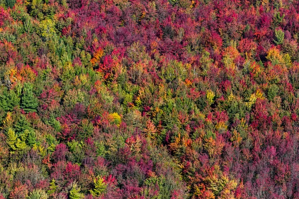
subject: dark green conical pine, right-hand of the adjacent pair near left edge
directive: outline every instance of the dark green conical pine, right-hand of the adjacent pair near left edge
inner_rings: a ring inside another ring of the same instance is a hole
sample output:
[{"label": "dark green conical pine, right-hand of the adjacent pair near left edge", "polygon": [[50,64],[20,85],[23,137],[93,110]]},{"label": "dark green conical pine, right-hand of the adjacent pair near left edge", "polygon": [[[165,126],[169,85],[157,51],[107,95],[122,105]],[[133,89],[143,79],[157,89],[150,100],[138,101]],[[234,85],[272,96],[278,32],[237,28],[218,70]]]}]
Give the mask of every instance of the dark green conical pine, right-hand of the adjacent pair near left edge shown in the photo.
[{"label": "dark green conical pine, right-hand of the adjacent pair near left edge", "polygon": [[35,112],[38,106],[37,98],[33,94],[33,86],[25,83],[21,100],[21,108],[26,112]]}]

